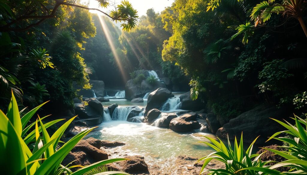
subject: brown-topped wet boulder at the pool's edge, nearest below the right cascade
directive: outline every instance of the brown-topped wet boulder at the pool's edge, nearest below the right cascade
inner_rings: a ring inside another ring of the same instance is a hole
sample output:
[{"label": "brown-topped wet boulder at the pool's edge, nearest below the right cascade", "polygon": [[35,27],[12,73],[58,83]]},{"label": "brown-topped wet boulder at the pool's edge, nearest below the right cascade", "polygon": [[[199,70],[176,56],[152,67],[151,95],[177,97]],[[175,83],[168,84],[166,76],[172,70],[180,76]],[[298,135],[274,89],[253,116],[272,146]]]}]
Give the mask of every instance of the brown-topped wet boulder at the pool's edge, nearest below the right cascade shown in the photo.
[{"label": "brown-topped wet boulder at the pool's edge, nearest below the right cascade", "polygon": [[200,124],[196,120],[196,113],[190,112],[174,118],[169,123],[169,129],[178,132],[191,131],[200,128]]}]

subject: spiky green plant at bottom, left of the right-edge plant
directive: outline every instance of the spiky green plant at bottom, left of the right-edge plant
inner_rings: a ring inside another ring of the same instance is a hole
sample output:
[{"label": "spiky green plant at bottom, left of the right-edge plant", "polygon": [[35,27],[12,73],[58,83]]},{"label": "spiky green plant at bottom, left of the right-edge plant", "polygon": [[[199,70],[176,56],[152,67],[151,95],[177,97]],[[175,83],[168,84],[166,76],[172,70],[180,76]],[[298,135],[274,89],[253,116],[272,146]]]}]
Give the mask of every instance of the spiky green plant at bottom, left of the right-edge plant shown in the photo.
[{"label": "spiky green plant at bottom, left of the right-edge plant", "polygon": [[[272,161],[261,161],[261,155],[263,154],[252,154],[252,149],[254,146],[254,143],[256,142],[257,138],[251,143],[251,145],[247,148],[247,150],[244,149],[243,146],[243,134],[240,138],[240,143],[238,145],[237,139],[235,138],[234,148],[232,148],[229,138],[228,138],[228,146],[226,147],[225,144],[222,142],[222,140],[219,139],[219,142],[215,139],[212,139],[210,137],[204,136],[208,140],[210,140],[212,143],[208,142],[200,142],[204,143],[210,147],[212,147],[216,152],[213,152],[203,158],[200,158],[198,162],[204,161],[204,164],[201,168],[201,173],[207,172],[209,175],[211,174],[238,174],[238,175],[256,175],[260,174],[258,170],[252,170],[252,169],[244,169],[247,167],[269,167],[267,165],[268,163]],[[225,163],[226,169],[208,169],[204,170],[206,165],[212,160],[216,159],[220,162]],[[279,173],[277,170],[271,170],[271,173]],[[265,173],[264,173],[265,174]]]}]

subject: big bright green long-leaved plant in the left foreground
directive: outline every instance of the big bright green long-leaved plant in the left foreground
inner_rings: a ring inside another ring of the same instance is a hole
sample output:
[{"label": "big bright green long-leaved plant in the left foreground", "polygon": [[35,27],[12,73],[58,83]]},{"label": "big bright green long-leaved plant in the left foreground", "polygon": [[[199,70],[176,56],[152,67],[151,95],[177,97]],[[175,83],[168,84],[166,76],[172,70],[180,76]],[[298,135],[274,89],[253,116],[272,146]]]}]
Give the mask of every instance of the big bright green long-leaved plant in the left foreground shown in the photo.
[{"label": "big bright green long-leaved plant in the left foreground", "polygon": [[[125,160],[123,158],[108,159],[86,167],[80,165],[61,165],[61,162],[72,148],[95,127],[80,132],[68,142],[64,143],[60,141],[60,137],[64,134],[64,131],[75,117],[66,121],[51,136],[46,128],[63,119],[53,120],[43,124],[42,120],[47,116],[42,118],[38,116],[35,122],[29,123],[29,120],[36,111],[45,103],[20,117],[20,113],[24,109],[19,112],[17,101],[12,91],[12,98],[8,106],[7,114],[4,114],[2,110],[0,110],[0,154],[2,156],[0,158],[0,166],[3,174],[81,175],[98,166]],[[63,145],[58,148],[58,143],[63,143]],[[70,170],[70,168],[76,167],[80,167],[80,169],[75,172]],[[105,174],[118,173],[127,174],[123,172],[107,172]]]}]

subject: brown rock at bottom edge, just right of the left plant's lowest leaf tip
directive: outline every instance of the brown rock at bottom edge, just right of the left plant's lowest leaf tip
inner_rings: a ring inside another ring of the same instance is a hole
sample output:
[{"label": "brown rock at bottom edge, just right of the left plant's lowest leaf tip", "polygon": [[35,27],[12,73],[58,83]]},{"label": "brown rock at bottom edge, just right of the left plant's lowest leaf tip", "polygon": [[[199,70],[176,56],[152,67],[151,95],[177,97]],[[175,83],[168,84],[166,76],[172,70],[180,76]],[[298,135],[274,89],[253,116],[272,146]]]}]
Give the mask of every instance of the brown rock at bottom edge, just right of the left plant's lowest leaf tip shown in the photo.
[{"label": "brown rock at bottom edge, just right of the left plant's lowest leaf tip", "polygon": [[144,157],[140,155],[135,156],[126,156],[124,157],[128,160],[120,161],[118,163],[119,169],[123,170],[126,173],[131,174],[142,174],[148,173],[148,166],[144,161]]}]

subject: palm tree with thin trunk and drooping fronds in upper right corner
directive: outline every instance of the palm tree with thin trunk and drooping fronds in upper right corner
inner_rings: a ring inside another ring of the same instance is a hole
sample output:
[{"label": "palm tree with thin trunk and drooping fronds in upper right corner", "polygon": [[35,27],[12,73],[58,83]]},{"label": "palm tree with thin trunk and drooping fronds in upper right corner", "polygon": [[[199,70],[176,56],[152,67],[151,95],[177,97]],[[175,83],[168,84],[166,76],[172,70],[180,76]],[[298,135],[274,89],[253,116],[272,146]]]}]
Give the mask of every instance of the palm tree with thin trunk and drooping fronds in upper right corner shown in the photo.
[{"label": "palm tree with thin trunk and drooping fronds in upper right corner", "polygon": [[294,17],[299,22],[307,37],[307,28],[303,20],[303,13],[306,10],[307,0],[282,0],[282,3],[275,3],[275,0],[263,1],[257,4],[251,14],[255,26],[270,19],[272,13],[281,13],[288,17]]}]

